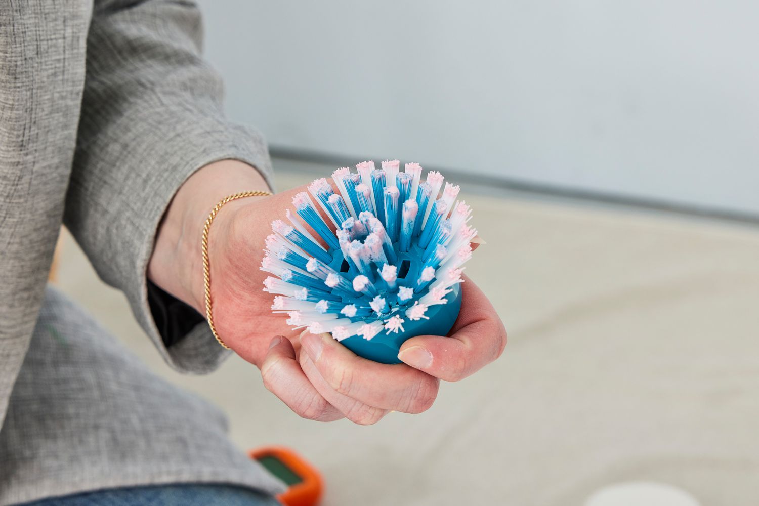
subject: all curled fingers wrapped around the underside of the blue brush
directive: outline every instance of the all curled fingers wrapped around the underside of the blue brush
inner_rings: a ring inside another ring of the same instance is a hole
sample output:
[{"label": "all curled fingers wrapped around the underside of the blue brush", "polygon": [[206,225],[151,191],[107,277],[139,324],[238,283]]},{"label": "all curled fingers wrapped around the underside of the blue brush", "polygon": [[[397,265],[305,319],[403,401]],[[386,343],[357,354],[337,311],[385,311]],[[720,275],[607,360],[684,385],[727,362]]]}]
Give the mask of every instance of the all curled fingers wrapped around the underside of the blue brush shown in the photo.
[{"label": "all curled fingers wrapped around the underside of the blue brush", "polygon": [[461,312],[450,337],[421,335],[406,341],[386,365],[358,357],[329,334],[304,332],[300,353],[291,342],[272,339],[261,366],[266,388],[295,413],[312,420],[345,416],[368,425],[391,410],[421,413],[432,406],[439,379],[470,376],[503,353],[506,332],[493,305],[464,276]]}]

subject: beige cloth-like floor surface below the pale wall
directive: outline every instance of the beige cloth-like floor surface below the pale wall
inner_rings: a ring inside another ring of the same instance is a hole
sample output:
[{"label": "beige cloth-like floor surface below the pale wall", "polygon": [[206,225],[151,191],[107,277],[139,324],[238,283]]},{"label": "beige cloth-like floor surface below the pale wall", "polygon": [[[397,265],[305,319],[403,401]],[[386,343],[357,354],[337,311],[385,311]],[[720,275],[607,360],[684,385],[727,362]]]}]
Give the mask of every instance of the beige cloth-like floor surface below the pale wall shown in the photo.
[{"label": "beige cloth-like floor surface below the pale wall", "polygon": [[[276,168],[280,188],[328,170]],[[455,182],[488,243],[467,273],[509,346],[421,415],[314,423],[242,360],[172,372],[70,237],[59,286],[159,374],[224,407],[241,448],[284,444],[312,460],[328,506],[567,506],[639,479],[702,504],[756,504],[759,229]]]}]

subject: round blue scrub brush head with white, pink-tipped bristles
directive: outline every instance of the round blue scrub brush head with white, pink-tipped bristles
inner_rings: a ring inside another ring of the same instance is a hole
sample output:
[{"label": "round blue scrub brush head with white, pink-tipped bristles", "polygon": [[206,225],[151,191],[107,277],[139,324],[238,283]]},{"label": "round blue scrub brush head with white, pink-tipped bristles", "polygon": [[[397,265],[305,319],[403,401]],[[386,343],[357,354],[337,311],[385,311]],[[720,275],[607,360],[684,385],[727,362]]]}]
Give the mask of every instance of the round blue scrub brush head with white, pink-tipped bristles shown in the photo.
[{"label": "round blue scrub brush head with white, pink-tipped bristles", "polygon": [[408,338],[451,330],[477,231],[467,225],[469,206],[456,201],[459,187],[442,187],[439,172],[420,182],[417,163],[403,172],[398,160],[356,168],[332,173],[337,192],[326,179],[313,181],[308,193],[317,203],[298,193],[295,212],[272,222],[261,269],[273,276],[264,291],[276,294],[272,310],[287,313],[288,325],[398,363]]}]

